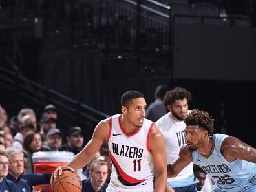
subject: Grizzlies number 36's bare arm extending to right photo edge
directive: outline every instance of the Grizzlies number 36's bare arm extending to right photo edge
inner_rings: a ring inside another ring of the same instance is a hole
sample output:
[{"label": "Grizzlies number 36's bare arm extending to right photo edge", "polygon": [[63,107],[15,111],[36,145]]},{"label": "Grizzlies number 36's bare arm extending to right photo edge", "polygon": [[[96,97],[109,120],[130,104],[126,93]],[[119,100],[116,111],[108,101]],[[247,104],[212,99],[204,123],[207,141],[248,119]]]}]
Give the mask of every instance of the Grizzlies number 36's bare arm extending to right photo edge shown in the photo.
[{"label": "Grizzlies number 36's bare arm extending to right photo edge", "polygon": [[225,138],[221,145],[221,153],[228,162],[241,159],[256,163],[256,149],[233,136]]}]

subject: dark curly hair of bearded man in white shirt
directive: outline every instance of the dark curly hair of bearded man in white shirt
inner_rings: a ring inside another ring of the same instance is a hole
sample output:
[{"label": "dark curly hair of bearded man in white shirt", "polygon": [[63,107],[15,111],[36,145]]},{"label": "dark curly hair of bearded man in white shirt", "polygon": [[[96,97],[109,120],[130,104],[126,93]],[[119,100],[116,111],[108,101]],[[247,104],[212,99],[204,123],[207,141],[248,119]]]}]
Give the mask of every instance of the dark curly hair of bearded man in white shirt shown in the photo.
[{"label": "dark curly hair of bearded man in white shirt", "polygon": [[183,87],[175,87],[174,89],[171,89],[170,91],[166,92],[164,96],[165,107],[167,107],[167,105],[173,104],[175,100],[183,100],[183,99],[187,99],[187,102],[191,101],[192,100],[191,93]]}]

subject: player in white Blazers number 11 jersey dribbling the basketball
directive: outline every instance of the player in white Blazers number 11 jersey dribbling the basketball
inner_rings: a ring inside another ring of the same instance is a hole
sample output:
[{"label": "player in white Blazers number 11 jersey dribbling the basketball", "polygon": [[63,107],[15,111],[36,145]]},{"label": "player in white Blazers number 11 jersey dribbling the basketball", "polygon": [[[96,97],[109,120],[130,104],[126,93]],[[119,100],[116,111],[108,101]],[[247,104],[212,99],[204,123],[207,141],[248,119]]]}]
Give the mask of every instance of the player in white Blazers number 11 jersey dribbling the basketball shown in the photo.
[{"label": "player in white Blazers number 11 jersey dribbling the basketball", "polygon": [[[155,123],[145,119],[144,95],[127,91],[121,98],[122,114],[102,120],[83,150],[64,167],[77,170],[91,160],[106,140],[112,161],[107,192],[164,192],[167,182],[164,137]],[[52,182],[62,174],[58,167]],[[155,180],[153,180],[155,178]],[[155,184],[153,185],[153,182]]]}]

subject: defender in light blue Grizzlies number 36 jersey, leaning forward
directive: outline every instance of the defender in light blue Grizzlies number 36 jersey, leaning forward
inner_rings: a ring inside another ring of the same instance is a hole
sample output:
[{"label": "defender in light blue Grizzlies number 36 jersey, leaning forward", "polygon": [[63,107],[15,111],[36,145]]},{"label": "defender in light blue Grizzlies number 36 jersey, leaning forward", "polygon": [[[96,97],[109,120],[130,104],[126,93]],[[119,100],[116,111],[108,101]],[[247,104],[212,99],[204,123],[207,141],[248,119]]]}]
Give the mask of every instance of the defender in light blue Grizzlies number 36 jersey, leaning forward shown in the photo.
[{"label": "defender in light blue Grizzlies number 36 jersey, leaning forward", "polygon": [[167,165],[169,177],[193,162],[213,178],[214,192],[256,191],[255,148],[233,136],[213,134],[213,119],[206,111],[194,109],[184,122],[186,145],[180,157]]}]

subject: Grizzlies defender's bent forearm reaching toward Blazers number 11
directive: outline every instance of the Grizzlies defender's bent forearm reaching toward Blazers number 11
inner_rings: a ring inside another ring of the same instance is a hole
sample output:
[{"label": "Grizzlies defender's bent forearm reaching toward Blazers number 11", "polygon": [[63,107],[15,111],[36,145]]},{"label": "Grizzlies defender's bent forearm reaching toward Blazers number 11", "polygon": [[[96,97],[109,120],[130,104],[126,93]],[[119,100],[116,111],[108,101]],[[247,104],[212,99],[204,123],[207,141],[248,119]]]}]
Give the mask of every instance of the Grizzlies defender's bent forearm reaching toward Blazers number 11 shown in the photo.
[{"label": "Grizzlies defender's bent forearm reaching toward Blazers number 11", "polygon": [[179,157],[173,164],[167,165],[168,178],[175,177],[184,169],[187,165],[192,161],[192,154],[189,151],[189,147],[187,145],[182,146],[180,149]]}]

